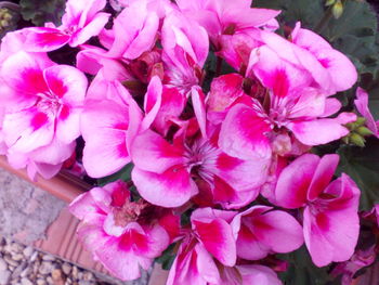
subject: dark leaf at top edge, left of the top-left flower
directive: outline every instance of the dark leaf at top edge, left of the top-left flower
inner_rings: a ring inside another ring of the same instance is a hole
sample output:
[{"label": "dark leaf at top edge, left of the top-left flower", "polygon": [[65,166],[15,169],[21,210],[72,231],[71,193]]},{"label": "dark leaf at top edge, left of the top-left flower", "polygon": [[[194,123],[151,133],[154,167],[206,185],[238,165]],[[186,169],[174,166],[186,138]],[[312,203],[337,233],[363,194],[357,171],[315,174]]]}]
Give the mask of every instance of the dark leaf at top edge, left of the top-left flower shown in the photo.
[{"label": "dark leaf at top edge, left of the top-left flower", "polygon": [[[80,1],[80,0],[78,0]],[[47,22],[61,24],[65,10],[65,0],[21,0],[21,14],[24,20],[31,21],[36,26],[43,26]]]}]

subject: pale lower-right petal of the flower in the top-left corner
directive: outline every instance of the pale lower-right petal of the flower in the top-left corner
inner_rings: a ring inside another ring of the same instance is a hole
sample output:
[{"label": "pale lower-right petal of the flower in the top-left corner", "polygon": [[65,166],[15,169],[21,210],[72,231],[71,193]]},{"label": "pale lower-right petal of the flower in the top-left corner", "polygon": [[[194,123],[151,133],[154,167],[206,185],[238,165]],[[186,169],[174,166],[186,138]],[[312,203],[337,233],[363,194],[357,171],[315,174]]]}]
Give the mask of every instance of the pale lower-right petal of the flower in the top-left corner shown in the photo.
[{"label": "pale lower-right petal of the flower in the top-left corner", "polygon": [[97,13],[88,25],[74,33],[68,44],[75,48],[84,43],[90,38],[97,36],[104,28],[105,24],[108,23],[109,16],[110,14],[108,13]]}]

